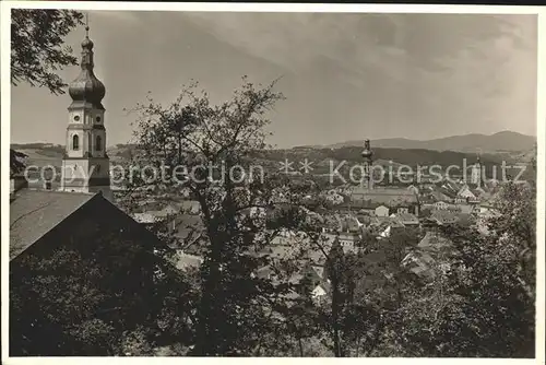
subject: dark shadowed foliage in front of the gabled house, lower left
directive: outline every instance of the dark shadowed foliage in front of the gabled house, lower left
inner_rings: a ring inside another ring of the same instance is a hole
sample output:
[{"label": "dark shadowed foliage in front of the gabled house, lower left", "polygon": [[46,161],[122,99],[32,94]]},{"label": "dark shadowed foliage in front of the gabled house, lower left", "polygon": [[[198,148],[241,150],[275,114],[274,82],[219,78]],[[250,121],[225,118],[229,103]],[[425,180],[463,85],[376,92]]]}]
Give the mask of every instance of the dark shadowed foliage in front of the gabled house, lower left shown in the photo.
[{"label": "dark shadowed foliage in front of the gabled house, lower left", "polygon": [[79,231],[88,242],[74,235],[10,262],[11,354],[115,355],[124,331],[154,328],[151,254],[116,232]]}]

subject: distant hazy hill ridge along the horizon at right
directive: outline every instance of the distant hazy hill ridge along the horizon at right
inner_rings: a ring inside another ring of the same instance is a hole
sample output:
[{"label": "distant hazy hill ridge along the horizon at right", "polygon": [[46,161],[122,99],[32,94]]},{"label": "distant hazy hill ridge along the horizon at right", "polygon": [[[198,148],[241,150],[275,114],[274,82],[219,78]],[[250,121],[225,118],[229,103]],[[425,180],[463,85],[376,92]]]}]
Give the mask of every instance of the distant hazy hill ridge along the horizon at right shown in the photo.
[{"label": "distant hazy hill ridge along the horizon at right", "polygon": [[[373,148],[383,149],[419,149],[435,151],[459,152],[520,152],[529,151],[536,143],[536,138],[511,131],[498,132],[491,136],[464,134],[434,140],[410,140],[405,138],[379,139],[372,141]],[[363,140],[347,141],[329,145],[329,148],[361,146]]]}]

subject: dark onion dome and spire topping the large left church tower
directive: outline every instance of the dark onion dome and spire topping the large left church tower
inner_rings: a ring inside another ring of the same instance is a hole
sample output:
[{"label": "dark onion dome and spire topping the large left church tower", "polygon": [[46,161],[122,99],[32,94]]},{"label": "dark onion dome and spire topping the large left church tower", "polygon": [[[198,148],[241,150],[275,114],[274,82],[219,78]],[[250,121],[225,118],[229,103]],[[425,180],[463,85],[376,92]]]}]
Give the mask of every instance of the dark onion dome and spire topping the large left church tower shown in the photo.
[{"label": "dark onion dome and spire topping the large left church tower", "polygon": [[88,37],[90,27],[85,26],[85,39],[82,42],[82,60],[80,75],[70,83],[69,94],[72,97],[71,107],[90,107],[104,109],[103,98],[106,94],[104,84],[93,72],[93,42]]}]

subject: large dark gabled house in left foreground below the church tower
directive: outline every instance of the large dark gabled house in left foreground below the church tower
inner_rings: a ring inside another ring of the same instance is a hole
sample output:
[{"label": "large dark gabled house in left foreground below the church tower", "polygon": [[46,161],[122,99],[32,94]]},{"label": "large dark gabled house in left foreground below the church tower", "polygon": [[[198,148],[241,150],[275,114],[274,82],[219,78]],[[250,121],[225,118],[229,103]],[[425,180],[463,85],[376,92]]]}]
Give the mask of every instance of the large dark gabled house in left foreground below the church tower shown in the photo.
[{"label": "large dark gabled house in left foreground below the church tower", "polygon": [[[57,354],[66,332],[51,318],[64,320],[59,314],[70,316],[74,306],[82,306],[74,326],[102,320],[119,329],[146,316],[154,250],[163,246],[154,234],[100,192],[22,189],[10,198],[10,355]],[[74,295],[83,287],[90,297]],[[112,317],[116,308],[124,309]]]}]

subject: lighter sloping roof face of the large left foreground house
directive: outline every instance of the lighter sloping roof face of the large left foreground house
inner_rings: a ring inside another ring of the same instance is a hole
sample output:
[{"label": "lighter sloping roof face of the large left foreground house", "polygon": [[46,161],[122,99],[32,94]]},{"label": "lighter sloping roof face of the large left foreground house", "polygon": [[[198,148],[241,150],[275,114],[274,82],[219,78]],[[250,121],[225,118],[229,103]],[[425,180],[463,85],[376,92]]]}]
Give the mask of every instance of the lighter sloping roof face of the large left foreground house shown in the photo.
[{"label": "lighter sloping roof face of the large left foreground house", "polygon": [[10,202],[10,260],[87,203],[95,195],[20,190]]}]

